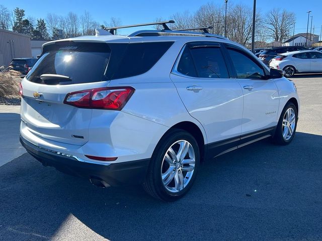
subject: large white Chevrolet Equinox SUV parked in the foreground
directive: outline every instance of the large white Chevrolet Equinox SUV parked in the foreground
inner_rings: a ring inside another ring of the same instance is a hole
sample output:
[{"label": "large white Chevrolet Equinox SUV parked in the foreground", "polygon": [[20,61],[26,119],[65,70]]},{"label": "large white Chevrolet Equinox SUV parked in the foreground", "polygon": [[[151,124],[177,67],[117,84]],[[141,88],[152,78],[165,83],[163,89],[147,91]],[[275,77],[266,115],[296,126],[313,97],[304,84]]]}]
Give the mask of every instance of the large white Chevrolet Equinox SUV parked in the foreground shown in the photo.
[{"label": "large white Chevrolet Equinox SUV parked in the foreground", "polygon": [[21,95],[20,140],[43,165],[166,201],[203,160],[289,144],[299,111],[293,82],[243,46],[167,29],[45,43]]}]

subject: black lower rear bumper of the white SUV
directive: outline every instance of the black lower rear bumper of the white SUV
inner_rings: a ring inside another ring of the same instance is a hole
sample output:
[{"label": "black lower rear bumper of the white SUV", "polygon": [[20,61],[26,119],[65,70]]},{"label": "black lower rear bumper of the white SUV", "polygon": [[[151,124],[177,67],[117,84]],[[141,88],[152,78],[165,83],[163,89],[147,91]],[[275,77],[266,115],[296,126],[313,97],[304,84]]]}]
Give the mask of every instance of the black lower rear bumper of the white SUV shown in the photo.
[{"label": "black lower rear bumper of the white SUV", "polygon": [[73,157],[61,156],[43,150],[20,136],[20,142],[27,152],[44,166],[84,178],[97,178],[110,186],[140,184],[144,181],[150,159],[101,165],[79,161]]}]

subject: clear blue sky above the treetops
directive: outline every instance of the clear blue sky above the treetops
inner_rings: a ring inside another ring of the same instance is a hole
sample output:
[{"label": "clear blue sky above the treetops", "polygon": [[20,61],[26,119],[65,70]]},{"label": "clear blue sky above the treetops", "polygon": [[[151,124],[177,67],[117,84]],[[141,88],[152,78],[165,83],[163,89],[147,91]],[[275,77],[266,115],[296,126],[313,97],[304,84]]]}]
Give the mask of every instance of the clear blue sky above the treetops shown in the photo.
[{"label": "clear blue sky above the treetops", "polygon": [[[34,18],[45,18],[47,13],[66,15],[72,11],[82,15],[84,11],[89,11],[92,17],[103,23],[109,22],[111,17],[120,18],[122,25],[135,23],[153,22],[157,17],[168,19],[176,12],[188,10],[194,13],[202,4],[214,2],[224,5],[224,0],[94,0],[94,1],[6,1],[0,4],[10,10],[19,7],[26,11],[26,16]],[[228,0],[228,4],[244,4],[253,7],[253,0]],[[296,15],[295,33],[306,32],[307,11],[312,11],[315,34],[320,33],[322,25],[322,1],[321,0],[257,0],[257,9],[266,13],[272,8],[286,9]],[[132,30],[130,30],[131,32]],[[313,30],[312,30],[313,32]],[[123,31],[122,31],[123,34]]]}]

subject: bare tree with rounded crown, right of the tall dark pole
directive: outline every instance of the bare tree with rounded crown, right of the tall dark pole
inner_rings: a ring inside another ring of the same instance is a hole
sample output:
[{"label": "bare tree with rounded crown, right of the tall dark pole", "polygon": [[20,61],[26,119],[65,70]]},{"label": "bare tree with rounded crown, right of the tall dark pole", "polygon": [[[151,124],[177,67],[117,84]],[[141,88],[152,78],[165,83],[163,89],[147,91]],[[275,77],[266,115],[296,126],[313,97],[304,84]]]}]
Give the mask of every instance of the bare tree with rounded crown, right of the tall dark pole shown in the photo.
[{"label": "bare tree with rounded crown, right of the tall dark pole", "polygon": [[268,12],[265,20],[269,35],[278,42],[282,42],[289,37],[294,22],[294,13],[280,9],[273,9]]}]

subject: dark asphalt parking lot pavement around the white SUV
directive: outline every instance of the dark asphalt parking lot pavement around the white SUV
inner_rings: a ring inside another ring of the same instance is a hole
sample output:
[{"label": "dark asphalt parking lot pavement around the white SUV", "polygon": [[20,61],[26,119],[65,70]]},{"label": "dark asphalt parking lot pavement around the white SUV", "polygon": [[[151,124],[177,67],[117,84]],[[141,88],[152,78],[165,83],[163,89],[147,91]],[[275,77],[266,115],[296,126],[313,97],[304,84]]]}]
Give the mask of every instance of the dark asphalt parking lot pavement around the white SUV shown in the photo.
[{"label": "dark asphalt parking lot pavement around the white SUV", "polygon": [[1,166],[0,239],[322,240],[322,75],[292,79],[293,142],[263,140],[204,163],[174,203],[139,186],[92,186],[29,154]]}]

